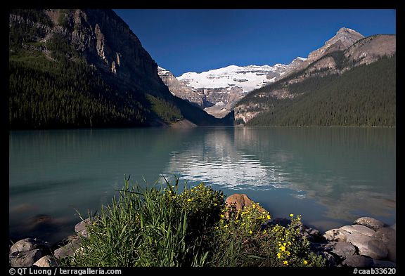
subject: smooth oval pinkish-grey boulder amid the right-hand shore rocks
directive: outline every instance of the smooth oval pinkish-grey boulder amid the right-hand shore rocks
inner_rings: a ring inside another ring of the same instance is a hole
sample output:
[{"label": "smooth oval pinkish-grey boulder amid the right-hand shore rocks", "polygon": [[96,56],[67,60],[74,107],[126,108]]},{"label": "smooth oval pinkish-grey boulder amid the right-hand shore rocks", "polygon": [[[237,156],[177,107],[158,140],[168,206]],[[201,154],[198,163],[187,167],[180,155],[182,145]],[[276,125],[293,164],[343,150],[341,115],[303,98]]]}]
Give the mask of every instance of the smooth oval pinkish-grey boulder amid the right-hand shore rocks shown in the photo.
[{"label": "smooth oval pinkish-grey boulder amid the right-hand shore rocks", "polygon": [[378,260],[387,258],[388,256],[388,249],[385,244],[374,237],[353,232],[347,235],[347,242],[357,247],[360,255],[369,256]]}]

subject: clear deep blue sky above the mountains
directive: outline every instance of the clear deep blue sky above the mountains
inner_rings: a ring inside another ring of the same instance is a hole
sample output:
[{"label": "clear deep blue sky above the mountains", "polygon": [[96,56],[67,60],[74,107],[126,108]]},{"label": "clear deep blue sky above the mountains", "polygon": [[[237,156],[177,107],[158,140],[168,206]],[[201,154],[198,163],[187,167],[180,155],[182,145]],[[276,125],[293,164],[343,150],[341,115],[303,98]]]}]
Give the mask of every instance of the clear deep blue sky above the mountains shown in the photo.
[{"label": "clear deep blue sky above the mountains", "polygon": [[228,65],[307,58],[340,27],[396,34],[396,11],[377,9],[114,10],[152,58],[176,77]]}]

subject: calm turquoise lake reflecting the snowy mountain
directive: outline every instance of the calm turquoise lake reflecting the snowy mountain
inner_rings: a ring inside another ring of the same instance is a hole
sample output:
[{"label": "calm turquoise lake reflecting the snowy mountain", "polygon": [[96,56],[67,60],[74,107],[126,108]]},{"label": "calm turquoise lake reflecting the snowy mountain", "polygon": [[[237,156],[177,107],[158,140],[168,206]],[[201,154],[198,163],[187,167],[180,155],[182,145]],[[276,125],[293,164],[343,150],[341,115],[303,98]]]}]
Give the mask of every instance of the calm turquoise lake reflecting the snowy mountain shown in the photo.
[{"label": "calm turquoise lake reflecting the snowy mountain", "polygon": [[10,131],[10,237],[57,242],[77,214],[161,175],[246,193],[272,217],[321,231],[373,216],[396,222],[396,129],[198,127]]}]

